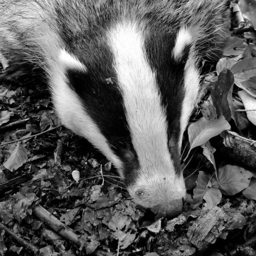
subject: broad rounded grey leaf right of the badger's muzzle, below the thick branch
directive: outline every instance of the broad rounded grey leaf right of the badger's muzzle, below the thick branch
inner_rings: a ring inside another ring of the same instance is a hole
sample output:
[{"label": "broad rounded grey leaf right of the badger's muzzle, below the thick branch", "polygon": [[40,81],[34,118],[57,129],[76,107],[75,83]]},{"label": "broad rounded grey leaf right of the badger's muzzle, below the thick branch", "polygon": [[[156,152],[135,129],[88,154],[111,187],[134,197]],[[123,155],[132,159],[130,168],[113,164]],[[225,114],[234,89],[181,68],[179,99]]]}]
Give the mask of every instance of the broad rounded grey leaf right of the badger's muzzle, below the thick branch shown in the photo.
[{"label": "broad rounded grey leaf right of the badger's muzzle, below the thick branch", "polygon": [[249,186],[252,176],[244,168],[228,164],[218,169],[218,181],[213,178],[212,186],[228,196],[233,196]]}]

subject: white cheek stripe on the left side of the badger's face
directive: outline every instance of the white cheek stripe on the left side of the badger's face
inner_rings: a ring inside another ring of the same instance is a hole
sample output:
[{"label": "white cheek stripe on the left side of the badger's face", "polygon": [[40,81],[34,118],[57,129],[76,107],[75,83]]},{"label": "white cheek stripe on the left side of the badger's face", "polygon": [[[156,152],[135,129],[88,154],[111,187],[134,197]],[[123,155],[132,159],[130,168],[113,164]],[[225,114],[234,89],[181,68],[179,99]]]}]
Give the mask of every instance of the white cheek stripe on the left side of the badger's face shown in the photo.
[{"label": "white cheek stripe on the left side of the badger's face", "polygon": [[[53,66],[52,94],[54,105],[63,124],[76,134],[85,137],[100,150],[113,164],[122,168],[121,160],[112,152],[98,126],[86,113],[79,98],[66,83],[62,63]],[[120,173],[122,176],[122,173]]]}]

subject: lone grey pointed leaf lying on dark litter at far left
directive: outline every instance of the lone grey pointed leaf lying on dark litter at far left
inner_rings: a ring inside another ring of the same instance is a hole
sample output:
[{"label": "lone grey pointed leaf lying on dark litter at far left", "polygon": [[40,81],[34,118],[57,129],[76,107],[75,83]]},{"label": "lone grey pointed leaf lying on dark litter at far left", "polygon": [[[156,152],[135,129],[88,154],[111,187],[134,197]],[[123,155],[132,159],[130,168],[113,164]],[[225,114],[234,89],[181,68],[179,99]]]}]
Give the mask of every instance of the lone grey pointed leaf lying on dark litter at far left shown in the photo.
[{"label": "lone grey pointed leaf lying on dark litter at far left", "polygon": [[26,163],[27,160],[28,156],[26,148],[24,148],[22,144],[18,144],[12,151],[8,160],[4,163],[4,167],[12,172]]}]

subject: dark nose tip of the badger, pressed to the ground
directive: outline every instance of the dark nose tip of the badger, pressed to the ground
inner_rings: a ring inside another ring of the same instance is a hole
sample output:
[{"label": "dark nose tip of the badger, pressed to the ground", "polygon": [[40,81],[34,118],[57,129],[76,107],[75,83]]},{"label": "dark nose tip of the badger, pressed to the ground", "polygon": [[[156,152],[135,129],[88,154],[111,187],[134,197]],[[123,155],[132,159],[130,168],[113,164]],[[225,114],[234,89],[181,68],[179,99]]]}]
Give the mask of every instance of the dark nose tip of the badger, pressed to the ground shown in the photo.
[{"label": "dark nose tip of the badger, pressed to the ground", "polygon": [[174,218],[182,212],[182,207],[183,200],[175,199],[171,202],[166,202],[165,204],[158,204],[150,208],[150,210],[156,215],[164,214],[167,218]]}]

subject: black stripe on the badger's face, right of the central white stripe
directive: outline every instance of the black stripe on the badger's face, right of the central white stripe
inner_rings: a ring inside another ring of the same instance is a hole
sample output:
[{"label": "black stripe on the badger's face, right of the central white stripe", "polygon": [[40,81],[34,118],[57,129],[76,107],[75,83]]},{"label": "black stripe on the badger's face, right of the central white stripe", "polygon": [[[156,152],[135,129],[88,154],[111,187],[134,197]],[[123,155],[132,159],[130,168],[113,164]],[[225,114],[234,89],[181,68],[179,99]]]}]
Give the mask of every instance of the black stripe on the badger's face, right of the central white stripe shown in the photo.
[{"label": "black stripe on the badger's face, right of the central white stripe", "polygon": [[151,31],[146,33],[145,48],[161,95],[162,106],[166,109],[168,122],[169,152],[174,161],[175,172],[180,173],[180,117],[184,100],[184,68],[188,59],[190,46],[182,51],[182,56],[175,60],[172,50],[176,43],[177,32]]}]

